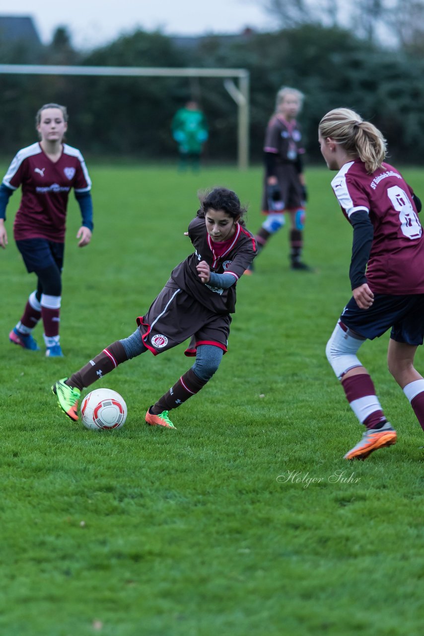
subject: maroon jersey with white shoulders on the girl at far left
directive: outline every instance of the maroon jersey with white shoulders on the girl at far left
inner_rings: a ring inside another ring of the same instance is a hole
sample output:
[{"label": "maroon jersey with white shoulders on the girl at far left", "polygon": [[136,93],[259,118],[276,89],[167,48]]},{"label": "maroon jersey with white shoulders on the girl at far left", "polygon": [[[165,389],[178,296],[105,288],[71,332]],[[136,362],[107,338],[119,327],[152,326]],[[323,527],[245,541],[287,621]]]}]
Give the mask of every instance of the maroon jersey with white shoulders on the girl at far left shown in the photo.
[{"label": "maroon jersey with white shoulders on the girl at far left", "polygon": [[54,163],[39,143],[18,151],[3,183],[11,190],[22,185],[22,200],[13,224],[16,240],[65,240],[65,220],[69,191],[88,192],[92,183],[83,156],[64,144]]}]

